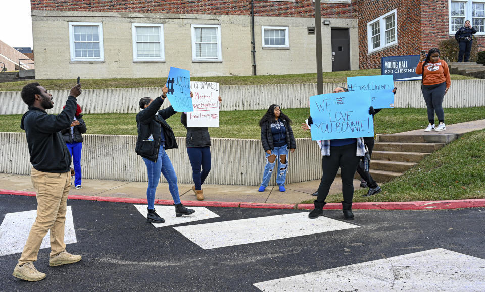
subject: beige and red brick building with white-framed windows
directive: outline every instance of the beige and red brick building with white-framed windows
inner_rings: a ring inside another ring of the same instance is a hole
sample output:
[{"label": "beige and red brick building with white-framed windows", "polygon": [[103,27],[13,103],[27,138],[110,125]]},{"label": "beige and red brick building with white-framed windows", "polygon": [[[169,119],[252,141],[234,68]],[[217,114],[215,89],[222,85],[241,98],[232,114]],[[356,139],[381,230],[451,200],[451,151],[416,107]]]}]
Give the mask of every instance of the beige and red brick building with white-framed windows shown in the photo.
[{"label": "beige and red brick building with white-framed windows", "polygon": [[[322,0],[323,69],[417,54],[465,18],[485,35],[483,5]],[[31,10],[37,78],[156,77],[170,66],[193,76],[316,72],[313,0],[31,0]]]}]

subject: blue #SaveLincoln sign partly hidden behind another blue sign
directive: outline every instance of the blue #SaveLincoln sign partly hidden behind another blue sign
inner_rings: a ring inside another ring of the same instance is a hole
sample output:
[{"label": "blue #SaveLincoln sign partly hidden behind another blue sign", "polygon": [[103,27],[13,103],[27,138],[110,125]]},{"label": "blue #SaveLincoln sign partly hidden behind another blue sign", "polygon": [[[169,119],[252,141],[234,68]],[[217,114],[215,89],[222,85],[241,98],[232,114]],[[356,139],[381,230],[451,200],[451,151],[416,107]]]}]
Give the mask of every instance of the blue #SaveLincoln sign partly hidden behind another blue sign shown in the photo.
[{"label": "blue #SaveLincoln sign partly hidden behind another blue sign", "polygon": [[394,108],[394,81],[391,75],[347,77],[349,91],[369,91],[374,108]]}]

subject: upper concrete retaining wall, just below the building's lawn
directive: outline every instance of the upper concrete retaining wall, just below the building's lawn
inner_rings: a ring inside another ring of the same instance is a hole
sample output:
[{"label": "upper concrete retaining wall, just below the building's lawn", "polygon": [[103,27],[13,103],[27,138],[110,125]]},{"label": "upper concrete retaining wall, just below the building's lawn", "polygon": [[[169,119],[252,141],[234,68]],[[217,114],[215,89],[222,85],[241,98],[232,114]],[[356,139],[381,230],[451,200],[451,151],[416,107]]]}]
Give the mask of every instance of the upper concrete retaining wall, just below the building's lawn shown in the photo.
[{"label": "upper concrete retaining wall, just below the building's lawn", "polygon": [[[332,92],[336,86],[345,83],[324,83],[324,92]],[[420,81],[396,82],[396,107],[425,108],[420,93]],[[48,89],[48,88],[47,88]],[[483,80],[452,80],[450,91],[445,96],[443,106],[475,107],[485,106],[485,82]],[[50,113],[59,113],[69,90],[52,90],[54,108]],[[137,113],[141,97],[156,97],[161,88],[117,88],[84,89],[78,102],[84,113]],[[231,85],[221,86],[223,102],[221,110],[267,109],[271,104],[283,108],[309,107],[309,96],[317,94],[316,84],[274,84],[274,85]],[[167,101],[165,106],[168,106]],[[20,91],[0,92],[0,114],[23,114],[27,106],[22,102]]]}]

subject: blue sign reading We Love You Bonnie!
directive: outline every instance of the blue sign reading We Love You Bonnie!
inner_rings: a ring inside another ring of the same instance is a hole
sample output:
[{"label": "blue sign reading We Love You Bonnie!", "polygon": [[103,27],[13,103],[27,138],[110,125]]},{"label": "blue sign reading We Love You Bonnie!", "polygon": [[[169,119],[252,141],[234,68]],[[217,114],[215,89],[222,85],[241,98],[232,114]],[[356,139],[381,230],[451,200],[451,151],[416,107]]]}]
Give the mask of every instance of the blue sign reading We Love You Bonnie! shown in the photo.
[{"label": "blue sign reading We Love You Bonnie!", "polygon": [[312,140],[374,136],[368,91],[339,92],[310,97]]}]

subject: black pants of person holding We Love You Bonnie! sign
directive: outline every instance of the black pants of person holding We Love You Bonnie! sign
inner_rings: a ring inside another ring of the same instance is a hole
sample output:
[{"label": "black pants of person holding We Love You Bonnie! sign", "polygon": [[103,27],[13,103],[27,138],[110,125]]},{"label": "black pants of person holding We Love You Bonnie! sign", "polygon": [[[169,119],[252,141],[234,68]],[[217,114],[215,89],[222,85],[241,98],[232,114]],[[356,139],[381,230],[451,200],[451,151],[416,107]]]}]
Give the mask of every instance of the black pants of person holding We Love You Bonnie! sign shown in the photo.
[{"label": "black pants of person holding We Love You Bonnie! sign", "polygon": [[330,146],[330,156],[322,156],[322,181],[318,187],[317,202],[323,203],[330,186],[337,175],[338,167],[342,177],[344,203],[352,203],[354,197],[354,173],[360,157],[356,156],[356,143],[344,146]]}]

